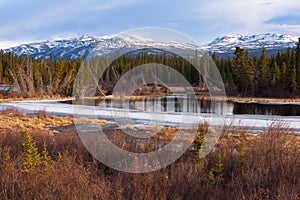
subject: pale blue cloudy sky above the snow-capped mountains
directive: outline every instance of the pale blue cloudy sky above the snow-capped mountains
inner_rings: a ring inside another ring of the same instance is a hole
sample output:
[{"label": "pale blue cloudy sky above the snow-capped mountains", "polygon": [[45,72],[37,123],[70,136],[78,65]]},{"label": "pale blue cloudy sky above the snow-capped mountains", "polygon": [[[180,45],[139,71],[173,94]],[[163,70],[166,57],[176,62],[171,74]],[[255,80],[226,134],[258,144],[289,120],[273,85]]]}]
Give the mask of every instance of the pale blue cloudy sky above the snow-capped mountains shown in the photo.
[{"label": "pale blue cloudy sky above the snow-capped mountains", "polygon": [[0,49],[160,27],[199,44],[224,35],[300,36],[299,0],[0,0]]}]

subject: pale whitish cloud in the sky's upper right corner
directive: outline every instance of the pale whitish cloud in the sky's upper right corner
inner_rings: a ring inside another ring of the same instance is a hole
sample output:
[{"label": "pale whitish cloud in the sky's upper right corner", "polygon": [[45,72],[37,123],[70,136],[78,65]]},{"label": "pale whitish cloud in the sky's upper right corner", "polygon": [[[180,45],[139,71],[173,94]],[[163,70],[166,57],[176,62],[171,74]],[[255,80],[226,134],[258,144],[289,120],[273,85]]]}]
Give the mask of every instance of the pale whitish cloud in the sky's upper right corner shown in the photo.
[{"label": "pale whitish cloud in the sky's upper right corner", "polygon": [[255,33],[268,31],[265,21],[297,6],[300,2],[294,0],[215,0],[201,1],[192,10],[197,18],[217,24],[220,32]]}]

